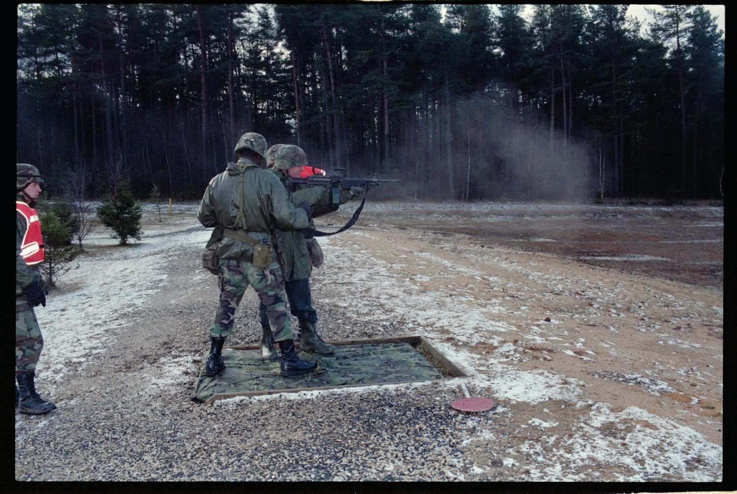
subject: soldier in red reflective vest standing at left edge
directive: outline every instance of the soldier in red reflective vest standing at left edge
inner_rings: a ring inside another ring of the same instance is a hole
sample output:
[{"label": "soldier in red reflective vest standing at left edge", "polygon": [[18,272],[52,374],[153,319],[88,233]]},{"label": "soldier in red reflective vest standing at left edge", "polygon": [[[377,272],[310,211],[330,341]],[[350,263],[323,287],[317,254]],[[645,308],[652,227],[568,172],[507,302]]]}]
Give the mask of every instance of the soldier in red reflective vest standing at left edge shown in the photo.
[{"label": "soldier in red reflective vest standing at left edge", "polygon": [[35,370],[41,356],[43,336],[33,308],[46,307],[46,289],[38,264],[43,261],[41,222],[35,210],[41,195],[41,172],[17,163],[15,194],[15,406],[26,415],[42,415],[56,409],[35,390]]}]

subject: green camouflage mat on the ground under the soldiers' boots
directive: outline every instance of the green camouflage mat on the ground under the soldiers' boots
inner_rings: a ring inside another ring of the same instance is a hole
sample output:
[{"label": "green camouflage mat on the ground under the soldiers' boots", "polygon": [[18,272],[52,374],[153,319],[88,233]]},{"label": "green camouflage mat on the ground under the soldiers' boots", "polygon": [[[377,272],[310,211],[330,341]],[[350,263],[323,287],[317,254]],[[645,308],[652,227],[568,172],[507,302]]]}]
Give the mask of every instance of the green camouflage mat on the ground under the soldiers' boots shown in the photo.
[{"label": "green camouflage mat on the ground under the soldiers' boots", "polygon": [[[258,395],[279,390],[304,390],[367,384],[392,384],[441,379],[443,375],[422,353],[407,342],[340,345],[335,353],[321,356],[298,351],[303,360],[318,362],[321,373],[283,377],[279,361],[264,361],[259,350],[223,348],[226,369],[214,377],[203,374],[195,387],[196,401],[213,395]],[[225,397],[223,397],[225,398]]]}]

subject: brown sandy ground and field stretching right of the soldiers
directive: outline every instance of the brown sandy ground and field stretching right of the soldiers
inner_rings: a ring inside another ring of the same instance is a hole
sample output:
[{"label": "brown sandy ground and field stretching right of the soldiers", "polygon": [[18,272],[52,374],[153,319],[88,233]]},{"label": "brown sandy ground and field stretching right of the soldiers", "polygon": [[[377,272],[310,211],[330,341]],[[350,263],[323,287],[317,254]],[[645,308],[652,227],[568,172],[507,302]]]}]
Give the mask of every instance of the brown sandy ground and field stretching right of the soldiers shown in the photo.
[{"label": "brown sandy ground and field stretching right of the soldiers", "polygon": [[[385,261],[391,276],[438,297],[461,297],[469,310],[493,305],[514,328],[464,350],[490,356],[511,343],[510,364],[585,383],[581,400],[646,409],[722,445],[721,218],[690,208],[494,214],[369,211],[329,242]],[[449,267],[462,274],[444,276]],[[544,342],[531,341],[534,328],[544,328]],[[453,326],[445,332],[453,344]]]}]

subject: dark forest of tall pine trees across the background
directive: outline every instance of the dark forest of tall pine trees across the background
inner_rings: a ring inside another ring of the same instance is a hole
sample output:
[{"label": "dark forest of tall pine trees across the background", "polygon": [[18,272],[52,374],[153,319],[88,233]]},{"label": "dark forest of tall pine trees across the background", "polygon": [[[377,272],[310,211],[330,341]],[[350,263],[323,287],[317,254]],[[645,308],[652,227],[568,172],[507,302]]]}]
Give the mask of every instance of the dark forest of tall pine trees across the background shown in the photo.
[{"label": "dark forest of tall pine trees across the background", "polygon": [[257,132],[386,198],[722,200],[724,32],[627,7],[20,4],[16,160],[193,200]]}]

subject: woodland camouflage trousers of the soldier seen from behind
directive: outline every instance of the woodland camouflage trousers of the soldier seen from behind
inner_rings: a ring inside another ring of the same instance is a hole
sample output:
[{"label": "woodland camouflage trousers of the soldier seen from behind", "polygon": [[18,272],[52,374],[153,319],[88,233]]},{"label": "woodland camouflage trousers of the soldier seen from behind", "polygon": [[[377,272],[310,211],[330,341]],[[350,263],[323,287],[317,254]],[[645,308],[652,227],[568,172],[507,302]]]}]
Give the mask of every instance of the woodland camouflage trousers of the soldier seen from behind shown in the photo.
[{"label": "woodland camouflage trousers of the soldier seen from behind", "polygon": [[251,285],[266,307],[274,339],[277,342],[294,339],[284,295],[284,274],[279,262],[273,261],[265,269],[259,269],[250,262],[220,259],[217,270],[220,273],[220,305],[210,325],[210,336],[227,338],[230,335],[235,310],[245,289]]}]

